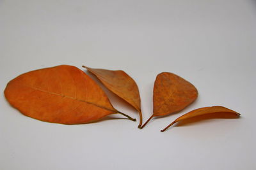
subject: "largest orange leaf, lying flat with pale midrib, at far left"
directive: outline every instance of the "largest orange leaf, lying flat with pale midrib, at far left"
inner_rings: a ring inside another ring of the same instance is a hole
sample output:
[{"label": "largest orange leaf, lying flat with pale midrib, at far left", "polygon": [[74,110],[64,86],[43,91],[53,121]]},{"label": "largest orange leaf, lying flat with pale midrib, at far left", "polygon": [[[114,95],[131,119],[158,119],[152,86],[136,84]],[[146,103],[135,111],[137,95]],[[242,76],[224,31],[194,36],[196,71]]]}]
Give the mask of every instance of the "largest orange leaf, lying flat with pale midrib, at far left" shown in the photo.
[{"label": "largest orange leaf, lying flat with pale midrib, at far left", "polygon": [[8,83],[4,94],[21,113],[45,122],[84,124],[118,113],[99,85],[74,66],[21,74]]}]

